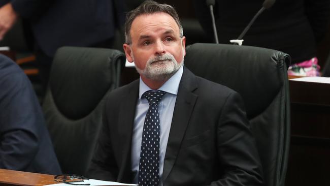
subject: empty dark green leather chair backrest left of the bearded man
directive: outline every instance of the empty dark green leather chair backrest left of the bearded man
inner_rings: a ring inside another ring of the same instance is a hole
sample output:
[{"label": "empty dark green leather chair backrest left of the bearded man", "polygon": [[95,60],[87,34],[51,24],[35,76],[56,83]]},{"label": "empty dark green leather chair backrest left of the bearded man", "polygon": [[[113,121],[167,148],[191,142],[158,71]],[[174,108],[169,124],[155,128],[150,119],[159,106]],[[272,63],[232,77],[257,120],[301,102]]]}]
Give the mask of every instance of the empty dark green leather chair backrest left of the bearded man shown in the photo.
[{"label": "empty dark green leather chair backrest left of the bearded man", "polygon": [[85,175],[100,131],[105,97],[118,87],[125,56],[104,48],[61,47],[43,103],[63,173]]}]

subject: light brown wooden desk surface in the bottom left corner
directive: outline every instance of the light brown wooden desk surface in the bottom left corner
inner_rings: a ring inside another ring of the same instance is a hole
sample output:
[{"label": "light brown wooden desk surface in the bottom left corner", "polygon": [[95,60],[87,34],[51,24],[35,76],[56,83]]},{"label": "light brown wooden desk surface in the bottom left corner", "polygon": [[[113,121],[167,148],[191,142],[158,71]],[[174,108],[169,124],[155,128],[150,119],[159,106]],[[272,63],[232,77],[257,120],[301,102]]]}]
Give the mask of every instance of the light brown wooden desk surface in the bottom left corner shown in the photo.
[{"label": "light brown wooden desk surface in the bottom left corner", "polygon": [[0,169],[0,185],[46,185],[58,183],[53,175]]}]

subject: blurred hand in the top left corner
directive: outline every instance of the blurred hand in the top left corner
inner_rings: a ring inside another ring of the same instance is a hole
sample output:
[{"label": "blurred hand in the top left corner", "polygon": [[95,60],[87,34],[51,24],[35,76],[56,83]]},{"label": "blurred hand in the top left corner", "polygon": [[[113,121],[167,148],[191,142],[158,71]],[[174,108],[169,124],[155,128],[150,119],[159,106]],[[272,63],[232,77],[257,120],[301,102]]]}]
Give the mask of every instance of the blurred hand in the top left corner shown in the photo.
[{"label": "blurred hand in the top left corner", "polygon": [[0,40],[4,38],[8,30],[14,25],[17,17],[18,15],[11,3],[0,8]]}]

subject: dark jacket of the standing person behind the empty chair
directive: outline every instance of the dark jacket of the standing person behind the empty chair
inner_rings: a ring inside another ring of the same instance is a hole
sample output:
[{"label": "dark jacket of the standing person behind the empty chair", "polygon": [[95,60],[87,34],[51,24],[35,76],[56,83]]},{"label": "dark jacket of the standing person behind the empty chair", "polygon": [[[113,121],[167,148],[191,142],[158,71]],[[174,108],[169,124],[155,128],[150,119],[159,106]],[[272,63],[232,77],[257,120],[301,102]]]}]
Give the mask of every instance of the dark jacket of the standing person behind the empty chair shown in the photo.
[{"label": "dark jacket of the standing person behind the empty chair", "polygon": [[92,46],[124,22],[122,0],[0,0],[28,19],[37,45],[52,57],[61,46]]}]

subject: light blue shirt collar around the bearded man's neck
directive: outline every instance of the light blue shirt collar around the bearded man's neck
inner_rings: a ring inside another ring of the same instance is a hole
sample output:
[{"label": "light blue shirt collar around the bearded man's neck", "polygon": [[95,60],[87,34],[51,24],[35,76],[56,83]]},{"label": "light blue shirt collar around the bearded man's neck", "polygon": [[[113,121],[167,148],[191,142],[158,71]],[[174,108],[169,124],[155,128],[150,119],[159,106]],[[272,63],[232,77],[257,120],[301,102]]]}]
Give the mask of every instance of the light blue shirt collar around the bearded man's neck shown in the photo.
[{"label": "light blue shirt collar around the bearded man's neck", "polygon": [[[167,80],[158,90],[166,91],[170,94],[177,95],[180,80],[183,74],[183,66],[169,79]],[[140,88],[139,88],[139,98],[141,99],[144,92],[151,90],[151,88],[146,85],[140,77]]]}]

